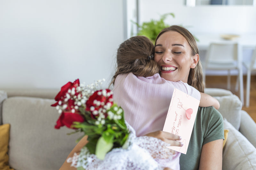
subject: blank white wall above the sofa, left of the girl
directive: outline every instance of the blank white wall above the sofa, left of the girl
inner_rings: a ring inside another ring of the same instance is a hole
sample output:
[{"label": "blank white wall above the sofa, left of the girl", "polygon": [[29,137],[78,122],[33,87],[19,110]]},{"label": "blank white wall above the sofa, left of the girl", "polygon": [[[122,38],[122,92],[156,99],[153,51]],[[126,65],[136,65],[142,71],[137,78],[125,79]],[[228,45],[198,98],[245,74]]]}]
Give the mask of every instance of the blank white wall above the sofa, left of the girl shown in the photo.
[{"label": "blank white wall above the sofa, left of the girl", "polygon": [[123,22],[121,0],[0,1],[0,89],[110,82]]}]

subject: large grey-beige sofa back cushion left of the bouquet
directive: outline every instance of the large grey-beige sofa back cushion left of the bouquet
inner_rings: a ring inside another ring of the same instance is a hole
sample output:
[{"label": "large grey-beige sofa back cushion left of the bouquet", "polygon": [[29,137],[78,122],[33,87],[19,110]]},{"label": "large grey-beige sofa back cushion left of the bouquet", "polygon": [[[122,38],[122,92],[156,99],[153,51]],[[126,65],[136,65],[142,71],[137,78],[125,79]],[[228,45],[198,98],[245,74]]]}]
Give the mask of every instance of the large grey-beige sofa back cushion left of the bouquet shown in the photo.
[{"label": "large grey-beige sofa back cushion left of the bouquet", "polygon": [[54,100],[11,97],[3,103],[3,122],[11,124],[9,165],[14,169],[56,170],[75,147],[82,134],[54,129],[59,114]]}]

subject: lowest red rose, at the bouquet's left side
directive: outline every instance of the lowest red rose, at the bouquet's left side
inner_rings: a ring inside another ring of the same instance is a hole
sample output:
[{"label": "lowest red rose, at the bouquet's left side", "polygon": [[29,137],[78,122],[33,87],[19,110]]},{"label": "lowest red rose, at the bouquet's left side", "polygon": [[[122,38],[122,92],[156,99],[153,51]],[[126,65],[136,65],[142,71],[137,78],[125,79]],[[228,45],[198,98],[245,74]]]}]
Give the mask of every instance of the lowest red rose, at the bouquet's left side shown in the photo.
[{"label": "lowest red rose, at the bouquet's left side", "polygon": [[73,122],[84,122],[84,117],[77,113],[62,112],[59,119],[56,122],[55,129],[60,129],[60,127],[62,126],[67,126],[68,128],[70,128]]}]

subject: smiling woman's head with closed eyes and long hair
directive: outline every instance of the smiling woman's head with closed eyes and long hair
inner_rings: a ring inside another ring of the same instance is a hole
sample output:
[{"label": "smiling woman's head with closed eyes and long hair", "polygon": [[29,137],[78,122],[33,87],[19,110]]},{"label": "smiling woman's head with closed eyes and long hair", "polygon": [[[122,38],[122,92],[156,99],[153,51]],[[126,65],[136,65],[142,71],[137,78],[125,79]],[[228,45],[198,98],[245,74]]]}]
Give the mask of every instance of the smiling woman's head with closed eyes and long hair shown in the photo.
[{"label": "smiling woman's head with closed eyes and long hair", "polygon": [[181,26],[164,28],[156,38],[154,60],[161,77],[183,81],[204,92],[202,64],[194,36]]}]

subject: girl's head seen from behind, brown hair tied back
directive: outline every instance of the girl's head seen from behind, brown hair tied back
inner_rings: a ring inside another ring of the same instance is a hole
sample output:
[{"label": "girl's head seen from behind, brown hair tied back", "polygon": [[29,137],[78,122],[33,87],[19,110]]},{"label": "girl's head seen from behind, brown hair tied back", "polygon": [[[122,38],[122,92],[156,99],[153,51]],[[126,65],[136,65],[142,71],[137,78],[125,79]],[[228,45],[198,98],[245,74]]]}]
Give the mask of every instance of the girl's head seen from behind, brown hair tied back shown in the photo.
[{"label": "girl's head seen from behind, brown hair tied back", "polygon": [[147,37],[134,36],[124,41],[117,49],[117,68],[112,83],[118,74],[132,72],[136,76],[149,77],[159,73],[160,67],[154,62],[153,54],[154,45]]}]

